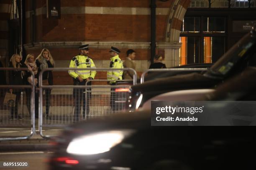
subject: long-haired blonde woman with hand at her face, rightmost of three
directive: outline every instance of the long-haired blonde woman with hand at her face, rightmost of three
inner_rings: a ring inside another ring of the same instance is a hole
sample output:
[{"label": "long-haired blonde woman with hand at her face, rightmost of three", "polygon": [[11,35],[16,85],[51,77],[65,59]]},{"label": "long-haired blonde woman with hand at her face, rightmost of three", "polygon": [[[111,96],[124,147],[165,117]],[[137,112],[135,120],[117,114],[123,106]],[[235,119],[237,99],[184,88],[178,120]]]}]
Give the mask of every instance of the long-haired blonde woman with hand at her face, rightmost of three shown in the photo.
[{"label": "long-haired blonde woman with hand at her face, rightmost of three", "polygon": [[[36,58],[36,65],[39,68],[39,72],[46,68],[54,67],[54,60],[48,49],[44,48],[41,53]],[[39,75],[38,72],[38,75]],[[38,78],[38,77],[37,77]],[[53,85],[53,75],[52,71],[45,71],[43,73],[43,83],[44,85]],[[51,89],[44,89],[46,94],[46,119],[49,119],[49,108],[51,100]],[[38,97],[37,97],[38,100]],[[38,108],[38,102],[36,102],[36,108]],[[38,118],[38,110],[36,112],[36,118]]]}]

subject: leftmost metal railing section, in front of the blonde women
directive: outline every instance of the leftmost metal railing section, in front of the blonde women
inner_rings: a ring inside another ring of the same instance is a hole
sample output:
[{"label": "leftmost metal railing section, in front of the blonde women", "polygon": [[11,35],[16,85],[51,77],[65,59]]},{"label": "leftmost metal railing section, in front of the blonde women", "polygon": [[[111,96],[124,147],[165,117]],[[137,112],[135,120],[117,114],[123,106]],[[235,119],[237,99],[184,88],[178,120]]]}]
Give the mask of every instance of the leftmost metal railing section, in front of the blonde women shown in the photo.
[{"label": "leftmost metal railing section, in front of the blonde women", "polygon": [[[24,91],[24,89],[30,89],[31,90],[31,96],[30,96],[30,119],[31,122],[28,125],[28,129],[30,130],[30,134],[26,135],[26,136],[13,136],[13,137],[0,137],[0,141],[3,140],[22,140],[22,139],[28,139],[31,138],[34,134],[36,134],[36,129],[35,129],[35,112],[34,112],[34,108],[35,108],[35,103],[34,103],[34,99],[35,99],[35,75],[33,73],[33,71],[28,70],[28,68],[11,68],[11,67],[2,67],[0,68],[0,70],[4,70],[4,71],[13,71],[13,70],[18,70],[18,71],[28,71],[31,73],[32,75],[32,79],[31,79],[31,85],[0,85],[0,89],[13,89],[14,91],[16,89],[18,89],[17,94],[20,92],[20,97],[21,97],[21,105],[23,106],[23,100],[22,100],[22,95],[21,92]],[[6,92],[8,92],[8,90],[5,90]],[[26,94],[28,95],[28,94]],[[17,100],[17,98],[15,99]],[[28,102],[28,101],[27,101]],[[18,104],[18,103],[16,103]],[[10,107],[13,107],[14,105],[12,104]],[[17,117],[18,117],[18,106],[15,105],[15,107],[17,107]],[[22,107],[21,107],[22,108]],[[14,109],[11,112],[14,112],[12,116],[14,116],[15,118],[15,109],[16,108],[11,108]],[[22,109],[23,111],[23,109]],[[8,119],[8,114],[6,114],[6,110],[2,110],[2,112],[4,112],[3,115],[0,114],[0,121],[1,121],[1,127],[5,127],[5,130],[8,129],[13,129],[13,126],[15,127],[16,130],[20,130],[20,128],[17,128],[22,126],[24,127],[24,123],[20,123],[19,121],[24,121],[24,120],[18,120],[18,122],[15,120],[11,120],[11,121],[5,121],[3,118],[7,118]],[[4,116],[5,115],[5,116]],[[23,115],[23,114],[22,114]],[[21,128],[22,129],[22,128]]]}]

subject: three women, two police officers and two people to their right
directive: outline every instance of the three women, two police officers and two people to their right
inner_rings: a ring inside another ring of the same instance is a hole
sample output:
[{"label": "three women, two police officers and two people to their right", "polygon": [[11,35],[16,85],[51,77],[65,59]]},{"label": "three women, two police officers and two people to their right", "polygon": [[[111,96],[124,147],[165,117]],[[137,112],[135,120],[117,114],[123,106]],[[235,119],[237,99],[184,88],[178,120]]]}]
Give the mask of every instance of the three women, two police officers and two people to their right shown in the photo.
[{"label": "three women, two police officers and two people to their right", "polygon": [[[74,85],[85,85],[88,80],[92,80],[95,78],[96,70],[94,68],[95,64],[92,58],[89,57],[89,45],[81,45],[79,47],[80,54],[73,57],[70,61],[69,68],[78,68],[81,70],[69,70],[69,75],[73,78]],[[115,70],[109,70],[107,72],[107,79],[109,85],[116,85],[118,80],[132,80],[133,72],[116,70],[123,69],[124,67],[133,68],[135,70],[136,65],[133,61],[136,57],[136,52],[132,49],[129,49],[126,54],[127,57],[125,61],[119,57],[120,50],[116,47],[111,47],[110,49],[110,68]],[[166,68],[166,66],[161,63],[162,57],[161,55],[156,55],[154,58],[154,64],[151,64],[150,68]],[[14,54],[10,59],[9,67],[14,68],[28,68],[35,75],[35,84],[38,87],[38,77],[41,70],[45,68],[54,67],[54,59],[51,56],[51,53],[48,49],[44,48],[38,57],[34,57],[33,54],[28,54],[25,62],[21,60],[20,55]],[[82,70],[87,68],[87,70]],[[9,74],[10,85],[30,85],[32,84],[32,74],[30,71],[21,71],[21,70],[13,70]],[[46,71],[43,73],[43,84],[44,85],[53,85],[53,74],[52,71]],[[91,85],[91,83],[87,83],[87,85]],[[90,89],[90,88],[87,88]],[[51,89],[44,89],[46,94],[46,119],[49,119],[49,107],[51,100]],[[111,88],[113,90],[113,88]],[[10,120],[19,119],[22,120],[23,117],[18,115],[18,103],[20,101],[21,89],[10,89],[10,92],[16,95],[15,105],[11,107],[11,118]],[[90,94],[90,93],[89,93]],[[110,96],[110,106],[114,109],[114,93],[111,92]],[[27,96],[27,106],[30,112],[31,110],[31,89],[26,89]],[[87,105],[87,114],[89,113],[89,104],[85,101],[85,89],[82,88],[74,88],[73,97],[75,102],[74,116],[76,120],[79,120],[80,110],[81,110],[81,101],[83,101],[83,117],[85,117],[85,106]],[[35,93],[35,117],[38,118],[38,92]]]}]

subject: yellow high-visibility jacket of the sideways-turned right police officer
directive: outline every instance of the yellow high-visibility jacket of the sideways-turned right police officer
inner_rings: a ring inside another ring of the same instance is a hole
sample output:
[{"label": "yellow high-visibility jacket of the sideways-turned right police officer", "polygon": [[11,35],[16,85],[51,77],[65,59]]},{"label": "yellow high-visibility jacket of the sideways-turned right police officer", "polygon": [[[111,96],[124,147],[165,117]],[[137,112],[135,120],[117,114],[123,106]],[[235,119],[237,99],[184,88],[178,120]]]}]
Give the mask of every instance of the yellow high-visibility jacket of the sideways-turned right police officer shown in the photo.
[{"label": "yellow high-visibility jacket of the sideways-turned right police officer", "polygon": [[[118,55],[110,58],[110,68],[123,68],[123,62]],[[115,80],[122,80],[123,70],[111,70],[108,71],[107,77],[110,80],[110,84],[115,83]],[[112,80],[112,81],[111,81]]]}]

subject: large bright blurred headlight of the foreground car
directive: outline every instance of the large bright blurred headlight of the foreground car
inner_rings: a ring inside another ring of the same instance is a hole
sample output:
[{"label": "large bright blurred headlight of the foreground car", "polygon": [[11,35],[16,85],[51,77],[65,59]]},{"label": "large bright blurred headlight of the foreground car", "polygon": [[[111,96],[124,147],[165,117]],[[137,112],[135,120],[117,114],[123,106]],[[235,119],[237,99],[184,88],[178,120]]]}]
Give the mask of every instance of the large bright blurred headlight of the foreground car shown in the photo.
[{"label": "large bright blurred headlight of the foreground car", "polygon": [[121,143],[131,133],[133,133],[133,130],[111,130],[83,135],[69,143],[67,153],[75,155],[105,153]]}]

